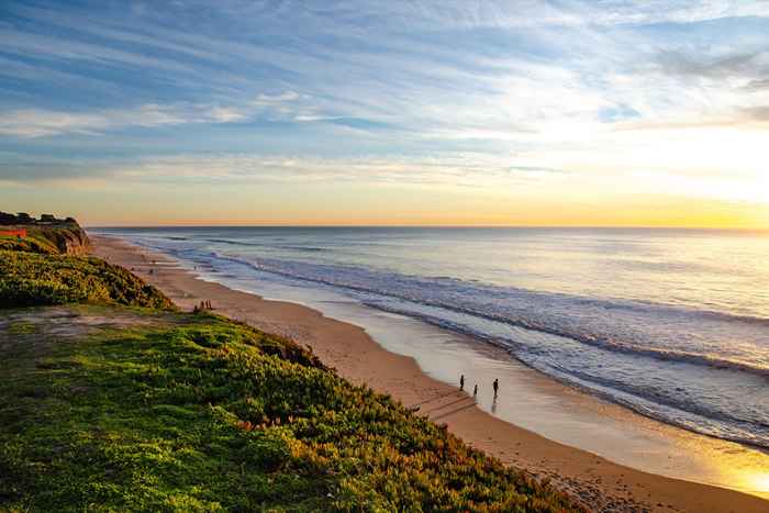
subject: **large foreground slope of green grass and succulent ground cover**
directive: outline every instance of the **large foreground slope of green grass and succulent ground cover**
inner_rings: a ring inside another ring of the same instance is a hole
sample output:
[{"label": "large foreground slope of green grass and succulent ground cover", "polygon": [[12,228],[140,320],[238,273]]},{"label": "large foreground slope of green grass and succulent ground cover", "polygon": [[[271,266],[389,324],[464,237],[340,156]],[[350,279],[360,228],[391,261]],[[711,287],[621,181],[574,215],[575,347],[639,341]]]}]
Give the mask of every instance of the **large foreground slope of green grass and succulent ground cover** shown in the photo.
[{"label": "large foreground slope of green grass and succulent ground cover", "polygon": [[157,316],[0,359],[0,510],[580,511],[289,341]]}]

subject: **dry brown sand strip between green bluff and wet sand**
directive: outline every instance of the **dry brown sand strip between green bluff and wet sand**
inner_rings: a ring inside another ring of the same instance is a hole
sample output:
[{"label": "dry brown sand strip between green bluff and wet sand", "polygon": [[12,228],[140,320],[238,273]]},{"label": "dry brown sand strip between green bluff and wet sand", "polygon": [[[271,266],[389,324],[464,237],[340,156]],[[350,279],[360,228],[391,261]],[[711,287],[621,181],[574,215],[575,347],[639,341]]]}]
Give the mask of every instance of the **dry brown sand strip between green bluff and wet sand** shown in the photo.
[{"label": "dry brown sand strip between green bluff and wet sand", "polygon": [[[218,313],[309,345],[321,360],[349,381],[389,393],[406,405],[419,405],[423,413],[428,405],[426,413],[432,420],[445,423],[468,444],[540,479],[549,479],[599,511],[769,509],[769,502],[758,497],[634,470],[500,420],[478,408],[471,397],[456,387],[427,376],[415,359],[384,349],[357,325],[300,304],[264,300],[203,281],[165,255],[122,239],[97,235],[92,241],[97,256],[133,268],[180,308],[190,310],[207,299]],[[149,275],[151,266],[159,270]]]}]

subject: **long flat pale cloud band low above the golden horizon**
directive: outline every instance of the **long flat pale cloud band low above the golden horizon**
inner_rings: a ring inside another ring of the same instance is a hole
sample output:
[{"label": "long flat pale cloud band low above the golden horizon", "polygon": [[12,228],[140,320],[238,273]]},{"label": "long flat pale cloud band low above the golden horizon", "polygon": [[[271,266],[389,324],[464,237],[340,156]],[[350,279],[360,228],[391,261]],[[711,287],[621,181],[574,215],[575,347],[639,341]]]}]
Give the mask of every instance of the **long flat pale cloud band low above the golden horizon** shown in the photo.
[{"label": "long flat pale cloud band low above the golden horizon", "polygon": [[515,157],[477,153],[411,157],[404,155],[317,157],[291,155],[175,155],[99,161],[19,158],[0,154],[0,180],[14,183],[103,179],[115,182],[174,183],[333,183],[478,187],[491,182],[533,183],[559,169],[517,166]]}]

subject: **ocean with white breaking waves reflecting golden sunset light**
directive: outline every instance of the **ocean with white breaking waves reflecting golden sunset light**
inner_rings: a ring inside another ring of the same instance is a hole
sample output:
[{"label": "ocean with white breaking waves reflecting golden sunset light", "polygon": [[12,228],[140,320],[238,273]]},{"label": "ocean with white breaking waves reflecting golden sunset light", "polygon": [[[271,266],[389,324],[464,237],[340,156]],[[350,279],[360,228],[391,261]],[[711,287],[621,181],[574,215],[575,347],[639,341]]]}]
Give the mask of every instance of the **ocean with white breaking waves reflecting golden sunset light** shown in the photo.
[{"label": "ocean with white breaking waves reflecting golden sunset light", "polygon": [[494,344],[547,376],[643,415],[769,448],[769,233],[91,231],[170,254],[227,286],[256,279],[332,289]]}]

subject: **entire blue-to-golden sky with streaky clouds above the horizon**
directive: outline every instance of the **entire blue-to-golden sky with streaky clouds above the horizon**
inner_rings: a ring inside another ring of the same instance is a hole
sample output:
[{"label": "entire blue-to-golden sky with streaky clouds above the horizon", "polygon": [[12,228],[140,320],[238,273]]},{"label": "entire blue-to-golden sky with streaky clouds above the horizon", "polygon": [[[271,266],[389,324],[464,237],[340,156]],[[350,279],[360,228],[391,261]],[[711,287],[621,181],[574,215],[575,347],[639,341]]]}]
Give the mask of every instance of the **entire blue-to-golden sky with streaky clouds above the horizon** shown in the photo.
[{"label": "entire blue-to-golden sky with streaky clouds above the horizon", "polygon": [[0,210],[769,227],[769,0],[0,2]]}]

